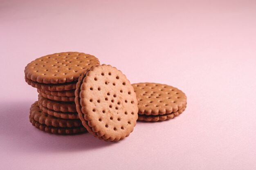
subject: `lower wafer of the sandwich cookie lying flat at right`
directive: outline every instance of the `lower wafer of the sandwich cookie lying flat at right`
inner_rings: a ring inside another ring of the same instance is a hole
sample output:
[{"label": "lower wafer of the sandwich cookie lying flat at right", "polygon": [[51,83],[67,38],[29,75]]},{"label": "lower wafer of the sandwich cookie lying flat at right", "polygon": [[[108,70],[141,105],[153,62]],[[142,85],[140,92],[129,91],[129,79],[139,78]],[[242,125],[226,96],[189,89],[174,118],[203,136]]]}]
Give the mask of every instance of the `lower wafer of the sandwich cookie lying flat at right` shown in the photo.
[{"label": "lower wafer of the sandwich cookie lying flat at right", "polygon": [[138,120],[140,121],[164,121],[168,119],[173,119],[174,117],[180,115],[186,108],[186,105],[177,110],[176,112],[164,114],[164,115],[139,115]]}]

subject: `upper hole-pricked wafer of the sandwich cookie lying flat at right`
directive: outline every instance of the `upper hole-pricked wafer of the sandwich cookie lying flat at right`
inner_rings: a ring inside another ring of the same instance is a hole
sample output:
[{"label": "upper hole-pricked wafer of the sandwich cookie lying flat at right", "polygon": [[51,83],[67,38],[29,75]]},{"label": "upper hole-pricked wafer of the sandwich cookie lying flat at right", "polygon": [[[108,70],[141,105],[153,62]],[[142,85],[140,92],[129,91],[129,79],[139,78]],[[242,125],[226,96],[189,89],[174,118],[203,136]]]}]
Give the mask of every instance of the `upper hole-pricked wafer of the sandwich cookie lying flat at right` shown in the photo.
[{"label": "upper hole-pricked wafer of the sandwich cookie lying flat at right", "polygon": [[180,110],[186,105],[186,95],[166,84],[132,84],[137,94],[139,114],[164,115]]}]

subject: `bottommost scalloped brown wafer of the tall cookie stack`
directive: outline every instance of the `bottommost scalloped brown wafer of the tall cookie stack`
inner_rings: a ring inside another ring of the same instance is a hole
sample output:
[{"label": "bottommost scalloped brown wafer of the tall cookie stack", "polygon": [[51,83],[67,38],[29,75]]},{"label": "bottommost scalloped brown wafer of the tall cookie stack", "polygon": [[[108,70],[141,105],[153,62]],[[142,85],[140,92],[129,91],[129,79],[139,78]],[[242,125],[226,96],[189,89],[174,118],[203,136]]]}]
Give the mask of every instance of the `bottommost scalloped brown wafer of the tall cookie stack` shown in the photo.
[{"label": "bottommost scalloped brown wafer of the tall cookie stack", "polygon": [[61,135],[72,135],[72,134],[79,134],[79,133],[87,132],[87,130],[83,126],[73,127],[73,128],[61,128],[61,127],[46,126],[45,124],[40,124],[39,122],[35,121],[33,118],[31,118],[30,115],[29,115],[29,121],[36,128],[43,130],[45,132],[48,132],[48,133],[61,134]]}]

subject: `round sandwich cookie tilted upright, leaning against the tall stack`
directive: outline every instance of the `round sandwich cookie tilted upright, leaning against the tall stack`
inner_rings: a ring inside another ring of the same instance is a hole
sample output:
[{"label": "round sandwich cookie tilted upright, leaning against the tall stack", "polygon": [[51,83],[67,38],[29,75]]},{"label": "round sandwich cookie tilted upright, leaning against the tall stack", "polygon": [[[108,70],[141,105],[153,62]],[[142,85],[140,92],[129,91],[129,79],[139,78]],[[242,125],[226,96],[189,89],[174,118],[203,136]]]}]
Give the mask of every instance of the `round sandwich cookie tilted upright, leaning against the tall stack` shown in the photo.
[{"label": "round sandwich cookie tilted upright, leaning against the tall stack", "polygon": [[118,141],[130,135],[138,119],[138,101],[126,76],[110,65],[81,75],[75,91],[83,125],[94,136]]}]

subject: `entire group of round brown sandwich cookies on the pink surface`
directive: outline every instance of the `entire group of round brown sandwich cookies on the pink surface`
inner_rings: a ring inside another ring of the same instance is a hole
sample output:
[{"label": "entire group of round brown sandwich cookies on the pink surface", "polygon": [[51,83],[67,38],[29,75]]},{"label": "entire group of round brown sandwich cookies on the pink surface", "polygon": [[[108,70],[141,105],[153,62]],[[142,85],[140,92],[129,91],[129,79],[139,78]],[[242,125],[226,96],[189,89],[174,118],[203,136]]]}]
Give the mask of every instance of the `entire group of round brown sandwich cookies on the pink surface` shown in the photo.
[{"label": "entire group of round brown sandwich cookies on the pink surface", "polygon": [[89,54],[68,52],[40,57],[25,68],[26,82],[38,89],[31,123],[46,132],[88,131],[105,141],[128,137],[136,121],[164,121],[186,108],[186,95],[164,84],[130,84],[110,65]]}]

